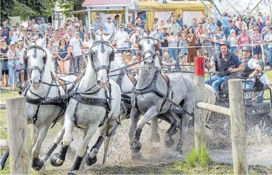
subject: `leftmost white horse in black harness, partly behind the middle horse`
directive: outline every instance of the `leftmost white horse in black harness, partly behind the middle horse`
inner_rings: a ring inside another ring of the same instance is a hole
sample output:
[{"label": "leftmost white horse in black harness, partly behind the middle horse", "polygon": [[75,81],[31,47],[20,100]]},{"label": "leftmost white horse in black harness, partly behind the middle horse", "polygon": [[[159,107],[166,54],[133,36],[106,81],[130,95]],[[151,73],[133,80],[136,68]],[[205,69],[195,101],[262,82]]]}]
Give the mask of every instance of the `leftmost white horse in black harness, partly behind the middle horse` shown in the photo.
[{"label": "leftmost white horse in black harness, partly behind the middle horse", "polygon": [[[39,39],[36,44],[29,42],[26,37],[24,42],[27,46],[24,62],[28,66],[30,79],[21,95],[26,97],[27,124],[34,124],[39,130],[37,142],[32,149],[31,165],[34,170],[39,171],[46,161],[39,158],[39,152],[48,129],[55,119],[59,121],[64,116],[62,114],[64,103],[53,98],[64,95],[71,84],[63,85],[64,82],[60,80],[59,82],[55,78],[51,55],[46,49],[45,37]],[[62,78],[73,82],[76,76],[67,75]]]}]

